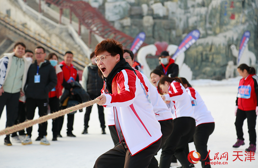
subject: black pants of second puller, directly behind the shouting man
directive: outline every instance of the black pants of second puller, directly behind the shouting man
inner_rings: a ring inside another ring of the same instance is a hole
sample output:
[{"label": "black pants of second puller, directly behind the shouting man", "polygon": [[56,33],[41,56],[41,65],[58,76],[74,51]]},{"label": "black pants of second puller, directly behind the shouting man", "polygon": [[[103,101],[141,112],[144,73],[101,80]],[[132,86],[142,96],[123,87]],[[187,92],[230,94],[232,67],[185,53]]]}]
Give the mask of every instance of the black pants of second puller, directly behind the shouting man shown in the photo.
[{"label": "black pants of second puller, directly behind the shouting man", "polygon": [[[174,123],[173,123],[173,119],[165,120],[165,121],[159,121],[159,123],[160,123],[160,127],[161,127],[161,132],[162,132],[162,141],[161,141],[160,148],[159,148],[159,150],[160,150],[162,148],[162,146],[165,144],[168,137],[170,137],[171,133],[173,132]],[[117,132],[116,132],[116,129],[115,129],[115,125],[111,125],[111,126],[109,125],[108,128],[110,130],[110,134],[111,134],[112,140],[114,142],[114,145],[118,145],[119,138],[118,138],[118,135],[117,135]],[[157,153],[155,155],[157,155]],[[153,158],[151,159],[151,163],[149,164],[148,168],[158,168],[158,167],[159,167],[158,166],[158,161],[153,156]]]}]

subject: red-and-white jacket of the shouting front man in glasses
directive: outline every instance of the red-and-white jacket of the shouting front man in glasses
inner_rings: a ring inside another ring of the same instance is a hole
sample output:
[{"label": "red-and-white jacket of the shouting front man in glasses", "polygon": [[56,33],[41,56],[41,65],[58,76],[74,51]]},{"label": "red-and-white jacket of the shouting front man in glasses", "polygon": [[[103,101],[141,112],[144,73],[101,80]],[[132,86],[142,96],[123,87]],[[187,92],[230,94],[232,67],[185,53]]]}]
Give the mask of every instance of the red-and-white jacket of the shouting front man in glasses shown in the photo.
[{"label": "red-and-white jacket of the shouting front man in glasses", "polygon": [[103,106],[113,108],[119,141],[125,140],[132,156],[161,138],[160,123],[134,71],[117,73],[112,80],[112,94],[108,94],[104,82],[101,94],[106,96]]}]

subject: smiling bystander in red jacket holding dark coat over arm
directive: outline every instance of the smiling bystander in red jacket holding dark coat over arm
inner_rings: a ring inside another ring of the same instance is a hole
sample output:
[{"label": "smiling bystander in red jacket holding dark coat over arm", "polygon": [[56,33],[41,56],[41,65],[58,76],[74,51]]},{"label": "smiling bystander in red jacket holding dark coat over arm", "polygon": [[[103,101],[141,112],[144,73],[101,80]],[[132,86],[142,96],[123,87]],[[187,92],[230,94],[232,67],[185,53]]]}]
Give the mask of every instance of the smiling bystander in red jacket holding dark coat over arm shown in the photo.
[{"label": "smiling bystander in red jacket holding dark coat over arm", "polygon": [[[73,88],[72,88],[70,83],[73,82],[73,81],[78,81],[79,82],[79,75],[77,73],[76,68],[74,68],[74,65],[72,64],[73,58],[74,58],[73,53],[71,51],[67,51],[64,55],[64,61],[62,61],[60,63],[60,68],[62,69],[63,74],[64,74],[62,87],[69,90],[71,94],[72,94]],[[68,102],[68,100],[65,101],[65,102]],[[62,104],[61,109],[63,110],[65,108],[67,108],[67,104]],[[64,117],[61,116],[60,117],[60,123],[59,123],[59,133],[58,133],[57,137],[62,137],[60,135],[60,131],[61,131],[62,126],[63,126],[63,121],[64,121]],[[67,115],[67,136],[68,137],[76,137],[72,133],[72,131],[74,130],[73,125],[74,125],[74,113],[68,114]]]}]

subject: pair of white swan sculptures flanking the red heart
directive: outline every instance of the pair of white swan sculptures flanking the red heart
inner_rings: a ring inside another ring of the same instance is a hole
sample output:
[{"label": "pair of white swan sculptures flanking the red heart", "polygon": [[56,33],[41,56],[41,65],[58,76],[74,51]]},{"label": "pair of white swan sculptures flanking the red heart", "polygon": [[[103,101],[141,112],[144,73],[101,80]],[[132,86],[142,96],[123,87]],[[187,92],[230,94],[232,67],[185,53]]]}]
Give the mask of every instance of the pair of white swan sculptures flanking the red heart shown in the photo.
[{"label": "pair of white swan sculptures flanking the red heart", "polygon": [[[168,51],[169,55],[172,55],[173,53],[176,52],[177,48],[178,46],[170,44],[168,45],[166,50]],[[151,69],[146,61],[146,56],[148,54],[155,55],[156,51],[157,51],[157,47],[154,44],[150,44],[140,48],[137,54],[138,61],[143,66],[143,73],[148,77],[150,76]],[[184,52],[176,58],[175,63],[179,66],[179,77],[184,77],[188,81],[191,81],[193,72],[184,63]]]}]

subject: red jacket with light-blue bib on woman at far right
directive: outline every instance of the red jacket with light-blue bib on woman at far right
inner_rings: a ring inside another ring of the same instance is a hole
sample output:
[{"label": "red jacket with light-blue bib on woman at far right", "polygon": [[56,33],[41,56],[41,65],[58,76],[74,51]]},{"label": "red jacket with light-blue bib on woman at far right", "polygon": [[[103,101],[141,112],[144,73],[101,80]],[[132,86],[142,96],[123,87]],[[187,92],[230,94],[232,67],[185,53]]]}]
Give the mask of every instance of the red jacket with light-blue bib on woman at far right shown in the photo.
[{"label": "red jacket with light-blue bib on woman at far right", "polygon": [[236,105],[243,111],[255,110],[258,100],[258,77],[250,74],[239,82]]}]

